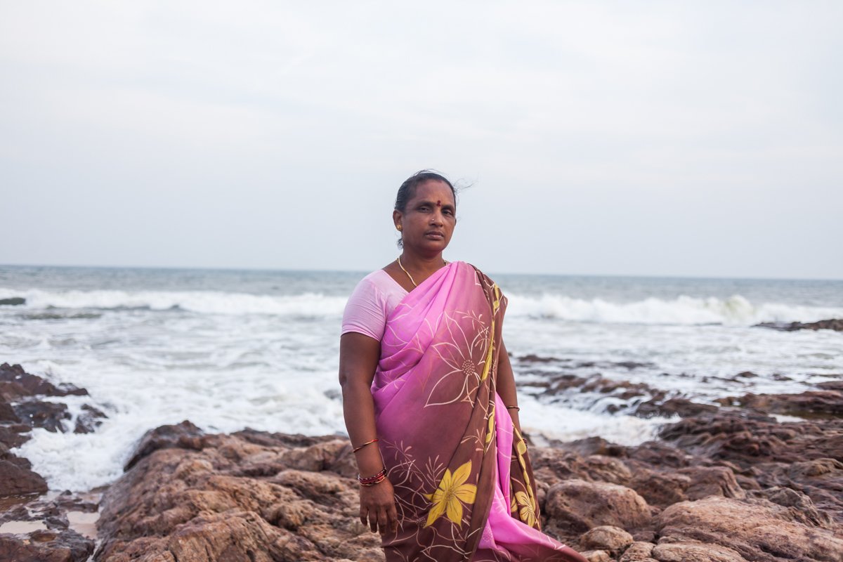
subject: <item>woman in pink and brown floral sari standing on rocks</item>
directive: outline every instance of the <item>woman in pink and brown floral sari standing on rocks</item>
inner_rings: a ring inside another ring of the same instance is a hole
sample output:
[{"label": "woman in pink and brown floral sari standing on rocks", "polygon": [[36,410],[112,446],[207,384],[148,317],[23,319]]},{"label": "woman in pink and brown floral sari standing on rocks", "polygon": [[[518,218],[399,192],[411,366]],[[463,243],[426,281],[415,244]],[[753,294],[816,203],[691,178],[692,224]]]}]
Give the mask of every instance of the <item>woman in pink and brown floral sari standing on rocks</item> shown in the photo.
[{"label": "woman in pink and brown floral sari standing on rocks", "polygon": [[340,340],[360,520],[393,560],[585,559],[540,532],[533,472],[501,339],[506,298],[448,263],[456,197],[419,172],[393,211],[403,252],[357,285]]}]

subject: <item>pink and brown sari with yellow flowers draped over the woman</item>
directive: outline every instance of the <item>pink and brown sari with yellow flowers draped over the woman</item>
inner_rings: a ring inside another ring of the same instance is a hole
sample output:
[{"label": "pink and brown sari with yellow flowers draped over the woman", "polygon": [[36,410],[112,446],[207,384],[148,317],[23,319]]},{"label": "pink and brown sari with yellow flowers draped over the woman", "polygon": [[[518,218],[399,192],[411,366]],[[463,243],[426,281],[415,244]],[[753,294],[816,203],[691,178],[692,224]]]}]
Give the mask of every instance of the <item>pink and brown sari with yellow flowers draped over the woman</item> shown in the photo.
[{"label": "pink and brown sari with yellow flowers draped over the woman", "polygon": [[452,262],[387,318],[372,394],[400,521],[388,562],[585,560],[541,533],[524,439],[495,390],[506,303]]}]

